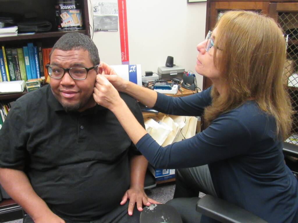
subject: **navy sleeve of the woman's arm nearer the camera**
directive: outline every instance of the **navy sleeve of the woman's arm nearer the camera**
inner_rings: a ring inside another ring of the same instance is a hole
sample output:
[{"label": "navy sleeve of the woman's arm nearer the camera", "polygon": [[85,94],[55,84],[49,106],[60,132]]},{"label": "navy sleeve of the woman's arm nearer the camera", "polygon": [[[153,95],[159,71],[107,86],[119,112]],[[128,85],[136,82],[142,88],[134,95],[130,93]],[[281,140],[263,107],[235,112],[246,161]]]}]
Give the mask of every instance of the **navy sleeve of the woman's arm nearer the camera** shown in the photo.
[{"label": "navy sleeve of the woman's arm nearer the camera", "polygon": [[224,114],[190,139],[162,147],[146,134],[136,147],[155,168],[188,168],[244,154],[251,138],[241,121]]}]

